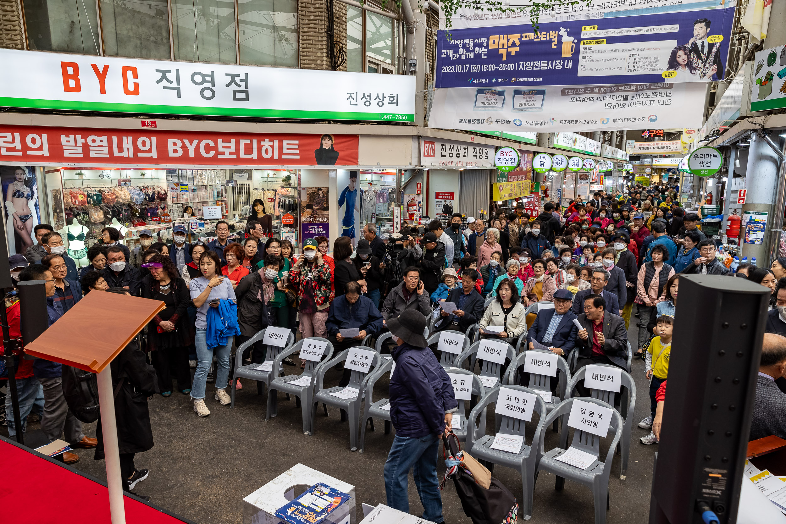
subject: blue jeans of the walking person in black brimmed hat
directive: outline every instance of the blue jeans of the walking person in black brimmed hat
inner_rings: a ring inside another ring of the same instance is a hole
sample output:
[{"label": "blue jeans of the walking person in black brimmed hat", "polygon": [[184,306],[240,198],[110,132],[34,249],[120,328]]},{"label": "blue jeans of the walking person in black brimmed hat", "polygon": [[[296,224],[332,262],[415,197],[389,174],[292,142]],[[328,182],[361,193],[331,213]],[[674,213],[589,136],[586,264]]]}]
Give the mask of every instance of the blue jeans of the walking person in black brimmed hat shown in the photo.
[{"label": "blue jeans of the walking person in black brimmed hat", "polygon": [[407,481],[410,469],[414,468],[415,486],[424,509],[423,519],[438,523],[444,521],[437,478],[438,453],[439,435],[436,433],[425,437],[395,436],[384,469],[388,506],[410,512]]}]

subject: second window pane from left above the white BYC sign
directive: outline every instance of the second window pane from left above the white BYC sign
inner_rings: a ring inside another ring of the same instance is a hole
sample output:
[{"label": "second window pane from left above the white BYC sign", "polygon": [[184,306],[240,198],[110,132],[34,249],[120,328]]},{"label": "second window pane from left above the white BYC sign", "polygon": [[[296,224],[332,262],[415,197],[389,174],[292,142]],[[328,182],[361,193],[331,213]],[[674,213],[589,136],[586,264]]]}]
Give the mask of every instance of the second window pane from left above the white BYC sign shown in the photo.
[{"label": "second window pane from left above the white BYC sign", "polygon": [[101,0],[101,32],[108,57],[169,60],[166,0]]}]

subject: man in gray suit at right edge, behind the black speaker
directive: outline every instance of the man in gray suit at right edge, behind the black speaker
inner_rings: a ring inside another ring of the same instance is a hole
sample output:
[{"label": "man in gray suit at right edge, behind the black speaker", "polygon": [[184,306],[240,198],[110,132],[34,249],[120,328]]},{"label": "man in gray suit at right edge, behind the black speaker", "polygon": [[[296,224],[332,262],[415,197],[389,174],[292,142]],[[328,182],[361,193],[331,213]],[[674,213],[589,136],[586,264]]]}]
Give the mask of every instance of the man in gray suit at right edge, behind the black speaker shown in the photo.
[{"label": "man in gray suit at right edge, behind the black speaker", "polygon": [[764,334],[762,358],[758,365],[756,401],[748,440],[786,438],[786,394],[778,389],[775,379],[786,374],[786,338],[774,333]]}]

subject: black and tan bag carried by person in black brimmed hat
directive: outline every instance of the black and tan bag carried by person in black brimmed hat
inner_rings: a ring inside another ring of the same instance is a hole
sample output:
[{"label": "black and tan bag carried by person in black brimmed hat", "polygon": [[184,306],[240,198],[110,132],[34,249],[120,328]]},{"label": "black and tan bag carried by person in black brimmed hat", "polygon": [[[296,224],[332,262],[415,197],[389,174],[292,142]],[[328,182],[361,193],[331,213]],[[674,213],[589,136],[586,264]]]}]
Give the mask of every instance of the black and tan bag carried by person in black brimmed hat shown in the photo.
[{"label": "black and tan bag carried by person in black brimmed hat", "polygon": [[516,524],[519,503],[510,490],[492,477],[487,467],[461,451],[453,432],[443,436],[443,443],[447,470],[439,488],[444,489],[448,478],[453,480],[461,508],[472,524]]}]

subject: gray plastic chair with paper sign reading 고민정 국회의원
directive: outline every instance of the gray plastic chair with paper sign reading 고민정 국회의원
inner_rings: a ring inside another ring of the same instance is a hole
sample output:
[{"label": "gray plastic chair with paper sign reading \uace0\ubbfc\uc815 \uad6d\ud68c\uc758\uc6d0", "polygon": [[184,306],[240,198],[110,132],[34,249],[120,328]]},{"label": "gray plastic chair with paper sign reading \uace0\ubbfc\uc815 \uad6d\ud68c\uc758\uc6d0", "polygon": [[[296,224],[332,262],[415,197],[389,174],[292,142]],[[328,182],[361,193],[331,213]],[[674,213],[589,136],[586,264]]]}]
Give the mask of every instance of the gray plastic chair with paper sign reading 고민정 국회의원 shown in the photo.
[{"label": "gray plastic chair with paper sign reading \uace0\ubbfc\uc815 \uad6d\ud68c\uc758\uc6d0", "polygon": [[[545,403],[537,392],[523,386],[505,386],[512,390],[522,391],[524,393],[534,394],[536,397],[534,405],[534,413],[538,414],[538,427],[532,435],[531,445],[527,445],[527,423],[524,420],[516,419],[511,416],[499,415],[494,413],[494,426],[497,428],[497,433],[505,430],[505,434],[523,435],[524,444],[521,446],[521,451],[514,455],[507,451],[499,449],[491,449],[494,443],[494,435],[483,434],[480,438],[472,439],[472,442],[467,440],[465,449],[467,453],[476,459],[487,460],[492,464],[499,464],[500,466],[512,467],[519,471],[521,475],[521,493],[523,494],[522,504],[520,511],[523,513],[523,519],[530,519],[532,515],[532,498],[535,486],[535,467],[538,465],[538,449],[542,449],[542,427],[545,420]],[[497,402],[500,387],[494,387],[486,394],[486,398],[478,402],[472,409],[469,415],[467,433],[475,434],[476,420],[482,412],[486,411],[487,405]],[[534,415],[533,413],[533,415]],[[483,415],[485,417],[485,415]],[[520,513],[520,516],[521,516]]]}]

